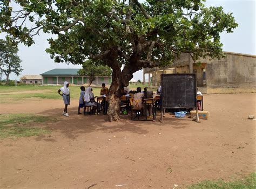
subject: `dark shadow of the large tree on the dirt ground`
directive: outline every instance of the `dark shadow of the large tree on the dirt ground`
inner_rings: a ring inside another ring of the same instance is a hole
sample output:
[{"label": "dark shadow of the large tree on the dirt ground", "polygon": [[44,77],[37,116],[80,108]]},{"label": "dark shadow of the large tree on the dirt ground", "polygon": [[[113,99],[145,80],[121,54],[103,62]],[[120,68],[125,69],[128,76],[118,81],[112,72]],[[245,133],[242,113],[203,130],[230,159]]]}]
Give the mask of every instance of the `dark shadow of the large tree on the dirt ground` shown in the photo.
[{"label": "dark shadow of the large tree on the dirt ground", "polygon": [[[130,112],[129,115],[120,116],[121,120],[119,122],[109,122],[106,115],[78,115],[77,108],[69,109],[69,117],[63,116],[62,111],[61,108],[56,108],[43,111],[41,114],[57,118],[57,121],[50,122],[47,126],[50,130],[59,131],[70,139],[75,139],[81,134],[90,132],[131,132],[133,134],[145,135],[149,132],[149,127],[169,125],[175,128],[186,128],[189,125],[189,123],[181,123],[172,118],[165,118],[164,123],[158,121],[132,121]],[[43,138],[38,137],[37,139],[41,140]],[[47,141],[51,142],[52,140],[48,139]]]}]

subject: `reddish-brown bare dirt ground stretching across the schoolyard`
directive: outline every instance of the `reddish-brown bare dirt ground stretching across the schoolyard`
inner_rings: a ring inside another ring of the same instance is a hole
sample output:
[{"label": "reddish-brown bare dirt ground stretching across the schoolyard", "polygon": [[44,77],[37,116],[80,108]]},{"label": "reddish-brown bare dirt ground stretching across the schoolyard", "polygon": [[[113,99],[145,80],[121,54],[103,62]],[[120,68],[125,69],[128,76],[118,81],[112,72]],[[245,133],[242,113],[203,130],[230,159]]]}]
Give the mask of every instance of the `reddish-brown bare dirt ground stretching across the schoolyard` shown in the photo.
[{"label": "reddish-brown bare dirt ground stretching across the schoolyard", "polygon": [[[201,123],[167,114],[165,123],[106,122],[106,116],[62,116],[62,100],[0,104],[3,113],[36,113],[58,121],[50,135],[0,140],[1,188],[186,188],[202,180],[255,171],[256,94],[204,96]],[[159,116],[158,116],[159,119]]]}]

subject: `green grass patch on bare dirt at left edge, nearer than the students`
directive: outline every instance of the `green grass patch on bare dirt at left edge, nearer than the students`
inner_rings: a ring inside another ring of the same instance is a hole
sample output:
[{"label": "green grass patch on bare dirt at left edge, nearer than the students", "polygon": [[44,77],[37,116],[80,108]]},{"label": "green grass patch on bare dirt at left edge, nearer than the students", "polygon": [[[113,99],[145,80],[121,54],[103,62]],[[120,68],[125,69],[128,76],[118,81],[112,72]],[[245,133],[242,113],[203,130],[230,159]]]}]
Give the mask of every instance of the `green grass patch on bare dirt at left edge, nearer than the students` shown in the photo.
[{"label": "green grass patch on bare dirt at left edge, nearer than the students", "polygon": [[51,120],[53,120],[53,118],[48,116],[37,116],[28,114],[0,115],[0,138],[50,134],[50,130],[38,127],[26,127],[26,124],[43,123]]}]

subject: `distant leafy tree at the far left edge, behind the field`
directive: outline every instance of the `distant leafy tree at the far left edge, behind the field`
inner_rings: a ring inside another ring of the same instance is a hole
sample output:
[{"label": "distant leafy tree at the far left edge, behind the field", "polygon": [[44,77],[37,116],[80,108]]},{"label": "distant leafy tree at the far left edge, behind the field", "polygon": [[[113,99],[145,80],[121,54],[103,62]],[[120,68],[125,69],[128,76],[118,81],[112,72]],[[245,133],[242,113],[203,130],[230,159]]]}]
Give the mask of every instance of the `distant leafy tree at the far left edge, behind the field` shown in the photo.
[{"label": "distant leafy tree at the far left edge, behind the field", "polygon": [[10,73],[18,76],[23,71],[17,52],[17,44],[0,39],[0,71],[6,75],[6,83],[9,83]]}]

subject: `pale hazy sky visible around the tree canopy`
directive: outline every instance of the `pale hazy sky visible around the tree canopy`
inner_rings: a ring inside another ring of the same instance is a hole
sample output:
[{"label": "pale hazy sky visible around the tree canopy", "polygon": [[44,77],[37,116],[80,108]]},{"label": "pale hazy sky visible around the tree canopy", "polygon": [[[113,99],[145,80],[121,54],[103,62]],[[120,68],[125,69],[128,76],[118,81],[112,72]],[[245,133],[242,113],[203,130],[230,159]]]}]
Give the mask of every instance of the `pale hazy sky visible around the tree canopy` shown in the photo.
[{"label": "pale hazy sky visible around the tree canopy", "polygon": [[[143,2],[143,1],[140,1]],[[221,33],[221,43],[223,51],[253,54],[255,52],[255,6],[256,0],[207,0],[206,6],[223,6],[226,13],[233,12],[236,22],[239,24],[233,33]],[[0,38],[4,39],[4,33],[0,33]],[[80,65],[66,65],[56,63],[50,59],[50,55],[45,52],[49,47],[47,39],[50,34],[41,33],[35,37],[35,44],[27,47],[19,44],[18,55],[22,60],[24,71],[21,75],[10,75],[10,79],[17,79],[22,75],[37,75],[55,68],[81,68]],[[3,74],[2,79],[5,79]],[[133,74],[133,78],[143,80],[143,71]],[[147,78],[147,77],[146,77]]]}]

